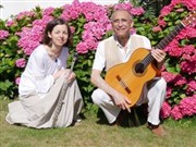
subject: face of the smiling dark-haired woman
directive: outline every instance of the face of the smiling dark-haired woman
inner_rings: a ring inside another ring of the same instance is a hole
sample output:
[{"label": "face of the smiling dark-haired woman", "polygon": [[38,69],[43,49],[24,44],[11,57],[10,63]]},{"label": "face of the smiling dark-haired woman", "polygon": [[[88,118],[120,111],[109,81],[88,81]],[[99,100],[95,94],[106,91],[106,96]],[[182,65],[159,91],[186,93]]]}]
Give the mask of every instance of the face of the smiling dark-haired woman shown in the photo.
[{"label": "face of the smiling dark-haired woman", "polygon": [[48,33],[51,38],[52,45],[62,47],[69,38],[69,30],[65,24],[57,25],[53,27],[51,33]]}]

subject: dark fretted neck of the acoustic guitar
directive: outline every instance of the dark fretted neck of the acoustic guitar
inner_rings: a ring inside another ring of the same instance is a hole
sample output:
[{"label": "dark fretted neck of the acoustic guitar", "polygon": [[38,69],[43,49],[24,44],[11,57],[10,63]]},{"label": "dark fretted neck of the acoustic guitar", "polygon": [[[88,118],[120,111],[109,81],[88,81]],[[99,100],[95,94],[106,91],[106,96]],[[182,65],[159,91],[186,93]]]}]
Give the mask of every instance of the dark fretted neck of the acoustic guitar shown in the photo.
[{"label": "dark fretted neck of the acoustic guitar", "polygon": [[[179,25],[175,26],[175,28],[169,34],[167,35],[155,48],[158,49],[164,49],[168,44],[170,44],[172,41],[172,39],[184,28],[184,25],[182,23],[180,23]],[[151,63],[154,61],[154,57],[151,56],[151,53],[149,52],[148,56],[146,56],[146,58],[142,61],[143,64],[145,64],[145,66],[147,66],[149,63]]]}]

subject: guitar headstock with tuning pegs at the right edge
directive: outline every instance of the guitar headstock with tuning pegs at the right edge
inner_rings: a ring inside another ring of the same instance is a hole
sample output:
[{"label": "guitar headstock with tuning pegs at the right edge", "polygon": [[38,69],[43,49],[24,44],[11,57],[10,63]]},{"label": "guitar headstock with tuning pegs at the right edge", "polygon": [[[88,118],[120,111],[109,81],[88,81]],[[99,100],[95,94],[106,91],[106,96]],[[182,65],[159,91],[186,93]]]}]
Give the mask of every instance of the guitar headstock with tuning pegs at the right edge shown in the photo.
[{"label": "guitar headstock with tuning pegs at the right edge", "polygon": [[194,25],[196,25],[196,10],[191,12],[189,15],[182,21],[182,24],[184,26],[187,26],[187,25],[193,25],[194,26]]}]

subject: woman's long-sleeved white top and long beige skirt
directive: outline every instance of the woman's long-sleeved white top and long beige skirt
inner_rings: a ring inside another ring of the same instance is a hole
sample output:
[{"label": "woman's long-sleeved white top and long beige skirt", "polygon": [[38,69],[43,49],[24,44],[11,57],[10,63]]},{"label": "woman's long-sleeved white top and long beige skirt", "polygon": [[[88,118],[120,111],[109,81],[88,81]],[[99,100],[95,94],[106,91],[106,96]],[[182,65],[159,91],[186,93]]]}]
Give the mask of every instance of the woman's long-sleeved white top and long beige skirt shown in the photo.
[{"label": "woman's long-sleeved white top and long beige skirt", "polygon": [[[20,100],[9,103],[9,113],[5,120],[10,124],[21,124],[35,128],[52,127],[57,101],[65,77],[53,79],[57,70],[66,68],[68,48],[63,48],[60,57],[50,59],[42,45],[38,46],[28,59],[25,71],[19,85]],[[65,127],[73,121],[78,121],[83,108],[83,98],[73,81],[65,91],[63,105],[60,109],[57,127]]]}]

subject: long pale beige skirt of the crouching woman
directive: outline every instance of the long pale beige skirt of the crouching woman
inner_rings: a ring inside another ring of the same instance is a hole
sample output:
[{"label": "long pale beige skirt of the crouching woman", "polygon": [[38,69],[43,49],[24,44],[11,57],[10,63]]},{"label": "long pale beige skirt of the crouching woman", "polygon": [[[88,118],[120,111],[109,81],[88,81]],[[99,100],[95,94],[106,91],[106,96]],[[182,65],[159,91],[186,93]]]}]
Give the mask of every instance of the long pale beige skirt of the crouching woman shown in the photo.
[{"label": "long pale beige skirt of the crouching woman", "polygon": [[[10,124],[21,124],[35,128],[53,127],[54,111],[61,96],[63,81],[64,77],[58,78],[44,98],[33,93],[30,96],[20,97],[19,101],[9,103],[9,113],[5,120]],[[77,82],[73,81],[65,91],[54,127],[66,127],[74,121],[78,121],[83,105]]]}]

